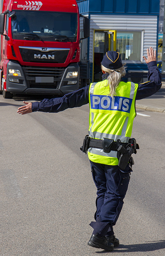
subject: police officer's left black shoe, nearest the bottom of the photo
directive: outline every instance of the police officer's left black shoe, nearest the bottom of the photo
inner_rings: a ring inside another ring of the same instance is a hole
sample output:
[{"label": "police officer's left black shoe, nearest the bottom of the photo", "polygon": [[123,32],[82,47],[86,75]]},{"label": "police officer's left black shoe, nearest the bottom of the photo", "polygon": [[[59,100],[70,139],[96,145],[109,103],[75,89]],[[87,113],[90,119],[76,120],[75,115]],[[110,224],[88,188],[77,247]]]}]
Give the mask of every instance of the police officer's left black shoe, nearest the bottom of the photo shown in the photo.
[{"label": "police officer's left black shoe, nearest the bottom of the photo", "polygon": [[114,249],[114,245],[110,241],[108,241],[106,236],[98,236],[98,234],[93,234],[91,236],[88,245],[95,248],[101,248],[106,251],[113,251]]}]

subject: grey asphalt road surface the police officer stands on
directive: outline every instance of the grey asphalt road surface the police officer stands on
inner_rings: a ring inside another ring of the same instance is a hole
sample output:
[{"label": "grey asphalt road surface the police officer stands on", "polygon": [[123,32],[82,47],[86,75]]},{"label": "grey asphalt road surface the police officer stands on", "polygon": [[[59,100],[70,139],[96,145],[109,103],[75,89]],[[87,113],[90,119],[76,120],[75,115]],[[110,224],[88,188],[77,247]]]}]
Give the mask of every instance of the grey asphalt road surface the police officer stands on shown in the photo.
[{"label": "grey asphalt road surface the police officer stands on", "polygon": [[142,112],[132,137],[140,150],[114,227],[113,252],[87,246],[96,188],[80,151],[88,105],[19,115],[22,100],[0,95],[0,256],[165,256],[165,121]]}]

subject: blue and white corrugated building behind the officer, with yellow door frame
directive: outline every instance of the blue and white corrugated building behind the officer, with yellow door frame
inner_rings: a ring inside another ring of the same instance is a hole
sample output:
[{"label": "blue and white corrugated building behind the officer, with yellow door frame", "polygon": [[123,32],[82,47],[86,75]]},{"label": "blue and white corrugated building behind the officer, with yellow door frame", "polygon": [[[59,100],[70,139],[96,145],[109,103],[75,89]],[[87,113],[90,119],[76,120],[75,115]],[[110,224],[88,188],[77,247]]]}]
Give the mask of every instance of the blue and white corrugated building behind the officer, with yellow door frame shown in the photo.
[{"label": "blue and white corrugated building behind the officer, with yellow door frame", "polygon": [[[90,38],[82,41],[81,61],[92,81],[101,79],[100,62],[108,50],[120,52],[132,72],[146,72],[148,47],[158,47],[160,0],[77,0],[90,19]],[[140,78],[137,79],[137,82]]]}]

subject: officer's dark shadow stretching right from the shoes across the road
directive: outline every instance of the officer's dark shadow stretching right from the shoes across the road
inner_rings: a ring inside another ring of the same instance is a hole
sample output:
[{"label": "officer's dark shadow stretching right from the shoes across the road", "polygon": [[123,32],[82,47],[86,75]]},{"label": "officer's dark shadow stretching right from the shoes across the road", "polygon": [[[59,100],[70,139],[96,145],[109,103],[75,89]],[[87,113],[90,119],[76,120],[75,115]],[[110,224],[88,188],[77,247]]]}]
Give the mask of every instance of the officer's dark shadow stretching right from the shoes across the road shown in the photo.
[{"label": "officer's dark shadow stretching right from the shoes across the road", "polygon": [[[165,240],[161,241],[148,241],[146,244],[120,244],[115,247],[111,253],[124,253],[124,252],[139,252],[139,251],[156,251],[165,248]],[[108,251],[96,251],[97,254],[108,253]]]}]

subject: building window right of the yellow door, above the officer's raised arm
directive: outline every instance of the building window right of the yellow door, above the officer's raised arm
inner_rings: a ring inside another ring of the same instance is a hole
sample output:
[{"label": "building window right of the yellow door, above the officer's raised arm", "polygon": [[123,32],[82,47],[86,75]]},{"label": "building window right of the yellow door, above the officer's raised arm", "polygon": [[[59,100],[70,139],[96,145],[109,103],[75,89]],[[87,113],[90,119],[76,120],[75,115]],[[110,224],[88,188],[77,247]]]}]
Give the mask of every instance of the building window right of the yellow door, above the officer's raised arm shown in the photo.
[{"label": "building window right of the yellow door, above the officer's raised arm", "polygon": [[124,61],[140,61],[141,32],[117,32],[116,49]]}]

